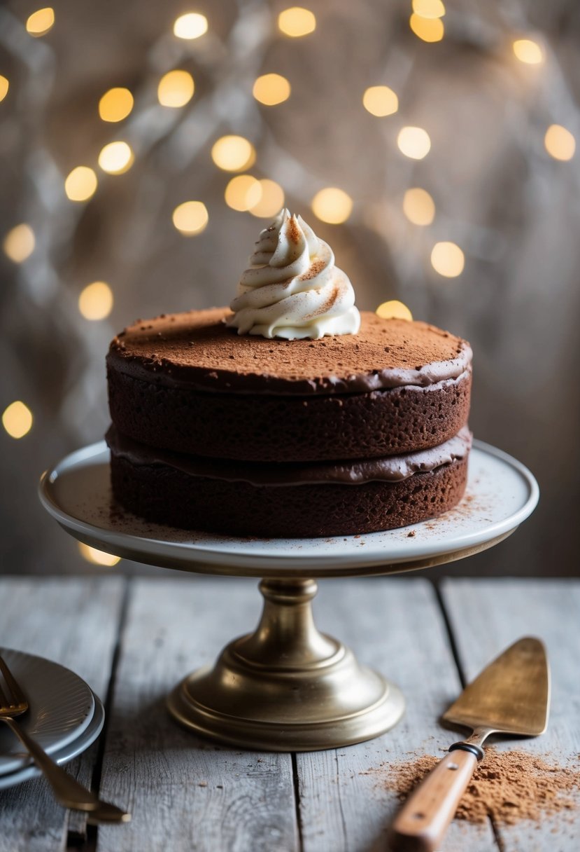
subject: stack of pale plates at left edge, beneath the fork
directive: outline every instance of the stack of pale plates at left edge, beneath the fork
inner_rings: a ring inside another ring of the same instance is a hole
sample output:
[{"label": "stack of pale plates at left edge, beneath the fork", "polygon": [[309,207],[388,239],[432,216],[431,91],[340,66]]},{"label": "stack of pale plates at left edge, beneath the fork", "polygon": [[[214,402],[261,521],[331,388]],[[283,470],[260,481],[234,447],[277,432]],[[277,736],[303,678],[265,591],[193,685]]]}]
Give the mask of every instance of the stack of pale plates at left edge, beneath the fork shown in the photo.
[{"label": "stack of pale plates at left edge, beneath the fork", "polygon": [[[100,699],[78,675],[30,653],[0,648],[30,709],[18,722],[56,763],[67,763],[97,739],[105,723]],[[41,772],[19,740],[0,722],[0,790]]]}]

